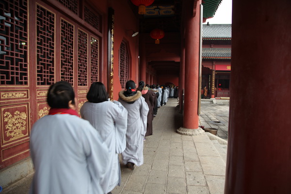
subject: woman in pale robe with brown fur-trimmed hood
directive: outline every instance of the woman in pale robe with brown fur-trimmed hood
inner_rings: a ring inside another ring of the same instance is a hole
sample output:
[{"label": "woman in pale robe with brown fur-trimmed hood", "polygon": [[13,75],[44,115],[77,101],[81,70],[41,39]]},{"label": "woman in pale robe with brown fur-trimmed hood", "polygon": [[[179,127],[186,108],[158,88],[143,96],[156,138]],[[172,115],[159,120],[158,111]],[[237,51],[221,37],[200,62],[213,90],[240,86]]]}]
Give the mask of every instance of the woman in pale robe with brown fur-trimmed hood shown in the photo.
[{"label": "woman in pale robe with brown fur-trimmed hood", "polygon": [[143,148],[148,106],[142,93],[135,91],[134,81],[127,81],[125,87],[126,91],[120,91],[118,99],[128,110],[126,148],[122,152],[122,159],[123,163],[133,170],[134,164],[140,166],[144,163]]}]

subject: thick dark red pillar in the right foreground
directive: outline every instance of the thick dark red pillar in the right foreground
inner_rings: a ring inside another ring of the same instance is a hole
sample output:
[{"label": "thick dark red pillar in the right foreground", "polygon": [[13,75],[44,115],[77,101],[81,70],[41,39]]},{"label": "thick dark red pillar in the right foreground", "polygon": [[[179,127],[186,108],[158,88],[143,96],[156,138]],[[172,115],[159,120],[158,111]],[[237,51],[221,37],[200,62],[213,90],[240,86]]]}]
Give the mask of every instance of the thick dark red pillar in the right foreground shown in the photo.
[{"label": "thick dark red pillar in the right foreground", "polygon": [[291,1],[232,5],[225,194],[291,194]]}]

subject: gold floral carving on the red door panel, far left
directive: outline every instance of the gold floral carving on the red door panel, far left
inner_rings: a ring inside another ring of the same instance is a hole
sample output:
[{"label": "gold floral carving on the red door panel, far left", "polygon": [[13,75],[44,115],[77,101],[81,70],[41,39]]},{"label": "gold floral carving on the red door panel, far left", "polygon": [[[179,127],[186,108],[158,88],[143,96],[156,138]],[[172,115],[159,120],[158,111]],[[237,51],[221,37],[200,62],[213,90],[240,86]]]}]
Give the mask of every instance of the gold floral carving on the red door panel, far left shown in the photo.
[{"label": "gold floral carving on the red door panel, far left", "polygon": [[9,112],[4,113],[4,121],[7,122],[5,129],[8,129],[5,133],[7,137],[11,136],[10,140],[25,136],[23,131],[26,130],[26,117],[26,113],[19,111],[14,112],[14,115]]}]

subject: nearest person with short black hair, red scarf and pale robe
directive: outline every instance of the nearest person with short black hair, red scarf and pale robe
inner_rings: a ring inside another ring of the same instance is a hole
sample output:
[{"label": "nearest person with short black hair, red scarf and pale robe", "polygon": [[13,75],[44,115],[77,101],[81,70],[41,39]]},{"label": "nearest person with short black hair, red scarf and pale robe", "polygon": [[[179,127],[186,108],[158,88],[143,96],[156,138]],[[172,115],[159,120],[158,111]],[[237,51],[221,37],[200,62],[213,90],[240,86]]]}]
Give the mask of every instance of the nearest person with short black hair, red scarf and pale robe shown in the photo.
[{"label": "nearest person with short black hair, red scarf and pale robe", "polygon": [[49,87],[49,115],[32,127],[30,149],[34,175],[30,194],[104,194],[100,182],[108,171],[107,145],[75,111],[72,86]]}]

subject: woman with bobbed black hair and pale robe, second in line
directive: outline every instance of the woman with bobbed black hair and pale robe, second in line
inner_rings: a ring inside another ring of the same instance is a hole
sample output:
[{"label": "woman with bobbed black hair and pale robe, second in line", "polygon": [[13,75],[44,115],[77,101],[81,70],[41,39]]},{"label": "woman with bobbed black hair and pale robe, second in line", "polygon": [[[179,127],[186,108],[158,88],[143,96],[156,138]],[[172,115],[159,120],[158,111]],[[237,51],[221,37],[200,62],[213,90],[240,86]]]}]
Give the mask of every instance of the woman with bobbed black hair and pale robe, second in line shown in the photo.
[{"label": "woman with bobbed black hair and pale robe, second in line", "polygon": [[110,167],[101,186],[106,193],[120,186],[121,171],[118,154],[126,147],[127,110],[117,101],[108,101],[108,93],[101,82],[94,82],[87,94],[88,102],[81,108],[81,117],[88,120],[100,133],[109,148]]}]

